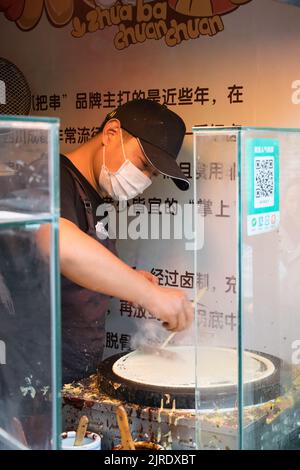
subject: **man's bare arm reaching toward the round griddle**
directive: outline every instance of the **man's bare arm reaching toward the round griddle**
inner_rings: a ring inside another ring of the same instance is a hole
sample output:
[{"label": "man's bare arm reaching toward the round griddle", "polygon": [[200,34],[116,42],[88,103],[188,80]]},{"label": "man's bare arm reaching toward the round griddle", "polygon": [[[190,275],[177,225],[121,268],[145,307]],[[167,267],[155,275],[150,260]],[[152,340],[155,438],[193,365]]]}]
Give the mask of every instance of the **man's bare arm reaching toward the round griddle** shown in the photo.
[{"label": "man's bare arm reaching toward the round griddle", "polygon": [[[193,309],[183,291],[153,284],[69,220],[60,218],[59,228],[60,267],[65,277],[86,289],[141,305],[172,331],[191,324]],[[50,236],[49,226],[42,226],[37,234],[45,256],[49,256]]]}]

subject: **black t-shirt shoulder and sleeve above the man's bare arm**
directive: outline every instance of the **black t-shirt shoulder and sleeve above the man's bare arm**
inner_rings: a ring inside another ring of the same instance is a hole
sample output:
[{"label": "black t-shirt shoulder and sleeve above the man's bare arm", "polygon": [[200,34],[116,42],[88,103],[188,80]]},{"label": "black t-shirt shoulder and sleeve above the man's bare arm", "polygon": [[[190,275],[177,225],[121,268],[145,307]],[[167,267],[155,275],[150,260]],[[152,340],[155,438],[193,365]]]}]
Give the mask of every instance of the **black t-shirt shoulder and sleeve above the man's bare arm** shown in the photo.
[{"label": "black t-shirt shoulder and sleeve above the man's bare arm", "polygon": [[105,199],[93,188],[88,180],[80,173],[80,171],[73,165],[73,163],[65,156],[60,156],[60,205],[61,217],[68,219],[77,225],[82,231],[87,232],[88,225],[86,219],[85,208],[83,202],[78,194],[74,178],[68,171],[70,168],[78,177],[82,184],[89,201],[92,204],[93,216],[95,224],[101,217],[97,218],[96,211],[100,204],[105,202]]}]

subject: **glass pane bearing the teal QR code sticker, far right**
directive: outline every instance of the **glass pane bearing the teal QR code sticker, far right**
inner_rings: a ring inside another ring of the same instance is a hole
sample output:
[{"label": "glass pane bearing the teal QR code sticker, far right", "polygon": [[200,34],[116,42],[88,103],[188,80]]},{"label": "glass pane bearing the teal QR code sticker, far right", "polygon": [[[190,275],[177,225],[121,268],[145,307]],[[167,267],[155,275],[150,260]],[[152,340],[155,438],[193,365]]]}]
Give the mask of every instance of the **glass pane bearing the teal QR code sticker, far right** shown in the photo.
[{"label": "glass pane bearing the teal QR code sticker, far right", "polygon": [[300,449],[300,133],[244,130],[241,150],[243,448]]}]

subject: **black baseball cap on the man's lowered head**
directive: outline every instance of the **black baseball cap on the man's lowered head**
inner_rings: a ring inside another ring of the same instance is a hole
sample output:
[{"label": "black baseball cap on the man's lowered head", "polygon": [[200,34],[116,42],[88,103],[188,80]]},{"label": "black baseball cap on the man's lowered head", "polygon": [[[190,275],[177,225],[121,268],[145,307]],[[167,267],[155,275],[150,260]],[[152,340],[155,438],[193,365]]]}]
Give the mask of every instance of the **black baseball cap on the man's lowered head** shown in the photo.
[{"label": "black baseball cap on the man's lowered head", "polygon": [[161,174],[172,178],[182,191],[190,183],[176,163],[186,127],[176,113],[156,101],[132,100],[110,112],[101,129],[110,119],[118,119],[122,129],[136,137],[146,158]]}]

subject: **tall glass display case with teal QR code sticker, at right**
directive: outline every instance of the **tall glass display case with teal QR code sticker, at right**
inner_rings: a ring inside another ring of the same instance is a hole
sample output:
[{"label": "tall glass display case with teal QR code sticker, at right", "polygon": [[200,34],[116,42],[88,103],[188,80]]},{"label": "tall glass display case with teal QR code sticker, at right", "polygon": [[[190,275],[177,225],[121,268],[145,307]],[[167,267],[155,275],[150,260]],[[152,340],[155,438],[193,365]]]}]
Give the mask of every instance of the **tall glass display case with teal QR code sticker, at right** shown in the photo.
[{"label": "tall glass display case with teal QR code sticker, at right", "polygon": [[300,130],[193,134],[198,448],[299,449]]}]

